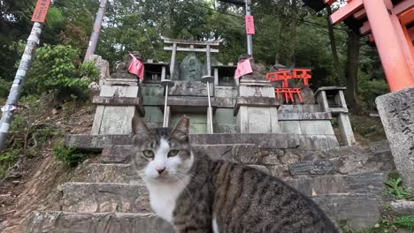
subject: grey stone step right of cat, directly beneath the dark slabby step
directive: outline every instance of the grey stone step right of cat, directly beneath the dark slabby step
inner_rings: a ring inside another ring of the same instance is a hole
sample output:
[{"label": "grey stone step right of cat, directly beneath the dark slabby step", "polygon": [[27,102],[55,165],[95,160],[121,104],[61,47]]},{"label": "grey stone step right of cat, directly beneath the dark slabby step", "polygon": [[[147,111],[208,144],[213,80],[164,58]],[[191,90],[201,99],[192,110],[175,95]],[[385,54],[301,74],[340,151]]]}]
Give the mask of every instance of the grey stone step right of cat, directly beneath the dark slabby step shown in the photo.
[{"label": "grey stone step right of cat, directly beneath the dark slabby step", "polygon": [[298,177],[285,182],[303,194],[354,193],[380,197],[385,190],[385,173],[363,173],[358,175],[328,175],[322,177]]}]

